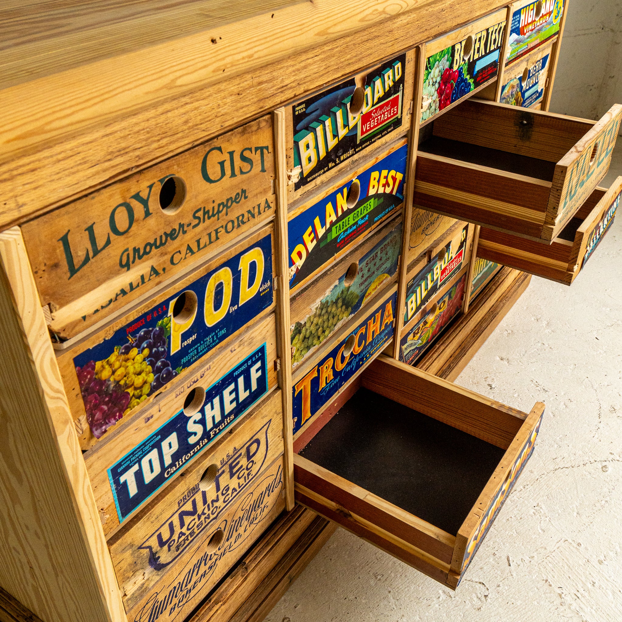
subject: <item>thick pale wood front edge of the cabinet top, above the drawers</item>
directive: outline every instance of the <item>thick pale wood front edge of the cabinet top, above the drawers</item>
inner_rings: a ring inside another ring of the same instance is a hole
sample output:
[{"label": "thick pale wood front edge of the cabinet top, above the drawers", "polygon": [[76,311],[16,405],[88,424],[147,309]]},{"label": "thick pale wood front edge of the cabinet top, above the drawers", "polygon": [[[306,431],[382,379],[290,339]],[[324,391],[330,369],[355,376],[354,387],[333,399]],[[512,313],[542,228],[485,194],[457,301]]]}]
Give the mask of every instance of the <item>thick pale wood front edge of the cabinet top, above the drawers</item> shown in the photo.
[{"label": "thick pale wood front edge of the cabinet top, above the drawers", "polygon": [[[337,0],[304,2],[148,54],[113,57],[106,67],[92,63],[88,71],[7,88],[0,228],[356,73],[367,64],[363,58],[410,49],[499,6],[499,0],[357,0],[344,9]],[[282,37],[266,45],[266,32]]]}]

